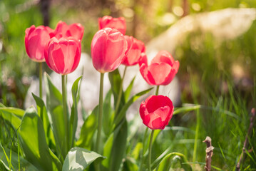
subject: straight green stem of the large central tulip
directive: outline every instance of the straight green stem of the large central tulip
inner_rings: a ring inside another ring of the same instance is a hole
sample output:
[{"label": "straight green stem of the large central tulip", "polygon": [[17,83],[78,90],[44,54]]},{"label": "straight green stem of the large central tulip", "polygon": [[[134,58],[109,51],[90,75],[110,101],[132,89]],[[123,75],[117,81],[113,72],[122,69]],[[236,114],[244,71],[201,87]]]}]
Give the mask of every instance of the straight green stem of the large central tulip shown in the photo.
[{"label": "straight green stem of the large central tulip", "polygon": [[100,97],[98,104],[98,133],[96,140],[96,152],[100,153],[100,144],[101,144],[101,128],[102,128],[102,114],[103,114],[103,78],[104,73],[101,73],[101,83],[100,83]]}]

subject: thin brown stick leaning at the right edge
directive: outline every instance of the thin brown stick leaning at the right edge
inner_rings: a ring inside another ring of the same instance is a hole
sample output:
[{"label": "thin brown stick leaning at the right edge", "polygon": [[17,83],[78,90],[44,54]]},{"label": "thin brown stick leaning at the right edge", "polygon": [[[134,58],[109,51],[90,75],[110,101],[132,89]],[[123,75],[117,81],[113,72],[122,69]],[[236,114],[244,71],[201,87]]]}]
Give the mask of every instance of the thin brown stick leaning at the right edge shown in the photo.
[{"label": "thin brown stick leaning at the right edge", "polygon": [[250,118],[250,126],[248,128],[248,132],[247,132],[247,135],[245,137],[245,142],[244,142],[244,146],[242,147],[242,153],[240,155],[240,159],[237,162],[237,167],[235,168],[236,171],[240,171],[241,163],[243,162],[244,157],[245,157],[244,153],[245,153],[245,150],[248,147],[248,137],[250,137],[250,135],[252,133],[253,124],[255,123],[255,118],[256,118],[255,117],[256,116],[255,108],[252,108],[251,113],[252,113],[252,115],[251,115],[251,118]]}]

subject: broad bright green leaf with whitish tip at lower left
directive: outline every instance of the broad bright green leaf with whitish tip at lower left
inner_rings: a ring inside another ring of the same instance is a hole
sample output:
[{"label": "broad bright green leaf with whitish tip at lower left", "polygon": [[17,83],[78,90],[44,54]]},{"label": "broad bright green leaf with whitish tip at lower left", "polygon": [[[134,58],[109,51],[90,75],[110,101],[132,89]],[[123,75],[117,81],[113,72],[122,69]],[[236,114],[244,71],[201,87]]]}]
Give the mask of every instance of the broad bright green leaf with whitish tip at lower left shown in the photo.
[{"label": "broad bright green leaf with whitish tip at lower left", "polygon": [[39,170],[61,170],[61,162],[48,148],[43,123],[34,107],[26,110],[19,135],[21,146],[29,162]]}]

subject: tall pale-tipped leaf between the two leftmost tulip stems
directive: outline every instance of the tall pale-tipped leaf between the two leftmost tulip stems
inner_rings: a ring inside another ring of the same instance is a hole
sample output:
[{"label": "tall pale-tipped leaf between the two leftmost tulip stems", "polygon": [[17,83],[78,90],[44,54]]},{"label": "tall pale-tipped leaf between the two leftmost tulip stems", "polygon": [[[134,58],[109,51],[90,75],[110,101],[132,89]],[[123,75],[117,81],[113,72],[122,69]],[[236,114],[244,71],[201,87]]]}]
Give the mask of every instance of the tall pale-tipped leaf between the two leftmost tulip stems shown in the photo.
[{"label": "tall pale-tipped leaf between the two leftmost tulip stems", "polygon": [[44,82],[46,83],[46,109],[48,120],[53,130],[58,156],[61,157],[61,161],[63,162],[66,154],[68,154],[69,148],[68,142],[66,141],[68,133],[66,133],[63,118],[62,95],[51,82],[50,76],[46,73],[44,74]]}]

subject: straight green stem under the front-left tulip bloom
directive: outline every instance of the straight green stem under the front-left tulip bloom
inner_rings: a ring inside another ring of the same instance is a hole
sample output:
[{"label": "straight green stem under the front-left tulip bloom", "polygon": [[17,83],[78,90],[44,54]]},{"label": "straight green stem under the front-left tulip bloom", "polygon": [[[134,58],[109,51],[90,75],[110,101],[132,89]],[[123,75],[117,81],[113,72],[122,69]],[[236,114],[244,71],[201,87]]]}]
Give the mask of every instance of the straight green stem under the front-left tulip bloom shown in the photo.
[{"label": "straight green stem under the front-left tulip bloom", "polygon": [[64,119],[64,125],[66,129],[66,143],[67,143],[67,151],[69,150],[69,140],[68,140],[68,113],[67,113],[67,103],[66,103],[66,76],[61,76],[61,82],[62,82],[62,103],[63,103],[63,119]]}]

